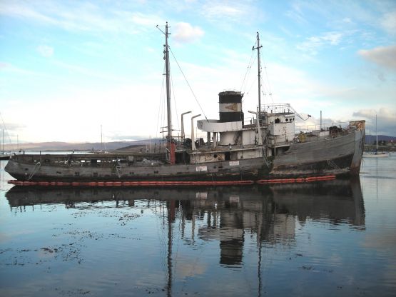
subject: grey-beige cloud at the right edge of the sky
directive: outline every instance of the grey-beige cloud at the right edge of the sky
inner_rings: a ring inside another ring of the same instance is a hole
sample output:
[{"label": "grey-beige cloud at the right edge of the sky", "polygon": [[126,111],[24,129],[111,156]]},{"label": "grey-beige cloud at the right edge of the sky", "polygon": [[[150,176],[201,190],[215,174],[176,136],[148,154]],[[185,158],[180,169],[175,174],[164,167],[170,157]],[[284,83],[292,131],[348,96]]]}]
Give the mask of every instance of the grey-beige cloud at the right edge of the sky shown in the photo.
[{"label": "grey-beige cloud at the right edge of the sky", "polygon": [[361,49],[357,53],[364,59],[379,66],[396,70],[396,45],[378,46],[374,49]]}]

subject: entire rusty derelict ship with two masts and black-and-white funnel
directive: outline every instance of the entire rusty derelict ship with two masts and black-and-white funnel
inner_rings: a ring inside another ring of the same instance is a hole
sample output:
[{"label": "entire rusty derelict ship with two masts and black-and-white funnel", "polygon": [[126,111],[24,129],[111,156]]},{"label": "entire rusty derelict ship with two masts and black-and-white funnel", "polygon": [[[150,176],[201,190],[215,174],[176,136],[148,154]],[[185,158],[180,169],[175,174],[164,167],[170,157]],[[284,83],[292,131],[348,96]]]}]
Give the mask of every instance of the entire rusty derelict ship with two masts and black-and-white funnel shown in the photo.
[{"label": "entire rusty derelict ship with two masts and black-and-white funnel", "polygon": [[162,150],[112,153],[15,154],[5,171],[17,181],[259,181],[265,178],[358,175],[365,121],[296,134],[300,116],[290,104],[260,104],[245,121],[243,93],[219,94],[219,119],[196,121],[207,139],[172,136],[168,24],[164,59],[168,126]]}]

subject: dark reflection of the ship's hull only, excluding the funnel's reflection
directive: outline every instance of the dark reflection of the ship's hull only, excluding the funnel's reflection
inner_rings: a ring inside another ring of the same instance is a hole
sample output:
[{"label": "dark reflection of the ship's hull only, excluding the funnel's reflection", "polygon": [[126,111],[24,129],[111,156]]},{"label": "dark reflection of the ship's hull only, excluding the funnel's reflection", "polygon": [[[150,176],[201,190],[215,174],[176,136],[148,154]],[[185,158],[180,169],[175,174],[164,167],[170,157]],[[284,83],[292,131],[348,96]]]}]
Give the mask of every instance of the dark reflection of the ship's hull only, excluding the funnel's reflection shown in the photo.
[{"label": "dark reflection of the ship's hull only, excluding the funnel's reflection", "polygon": [[[221,229],[224,226],[252,228],[258,231],[258,226],[265,229],[265,221],[272,226],[274,222],[283,221],[286,227],[288,216],[296,216],[298,221],[328,220],[332,223],[348,223],[359,228],[364,228],[365,225],[359,178],[318,183],[207,188],[14,186],[6,193],[6,198],[11,210],[19,207],[25,209],[26,206],[34,208],[46,203],[62,203],[67,208],[73,208],[78,203],[91,203],[91,206],[94,206],[94,203],[104,201],[113,201],[114,207],[134,206],[136,200],[167,201],[169,207],[172,204],[176,206],[174,211],[183,218],[193,219],[194,212],[200,213],[200,217],[203,217],[203,213],[209,213],[208,223],[212,220],[221,222],[220,226],[215,228],[208,226],[209,230]],[[110,207],[111,204],[107,206]],[[205,231],[202,231],[202,234],[204,233]],[[209,232],[208,236],[215,234],[210,235]]]}]

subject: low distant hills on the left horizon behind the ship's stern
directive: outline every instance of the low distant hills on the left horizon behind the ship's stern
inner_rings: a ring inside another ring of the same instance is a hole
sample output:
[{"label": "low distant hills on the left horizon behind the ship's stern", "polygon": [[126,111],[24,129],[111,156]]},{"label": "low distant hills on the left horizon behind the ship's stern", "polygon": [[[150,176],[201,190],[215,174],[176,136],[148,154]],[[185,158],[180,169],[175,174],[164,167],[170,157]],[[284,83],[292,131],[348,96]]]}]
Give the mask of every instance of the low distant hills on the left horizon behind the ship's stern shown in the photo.
[{"label": "low distant hills on the left horizon behind the ship's stern", "polygon": [[[128,149],[129,146],[146,146],[154,144],[155,140],[138,140],[138,141],[113,141],[101,144],[100,142],[86,143],[68,143],[61,141],[38,142],[19,144],[19,150],[22,151],[113,151],[119,148]],[[16,144],[4,144],[4,151],[16,151]]]}]

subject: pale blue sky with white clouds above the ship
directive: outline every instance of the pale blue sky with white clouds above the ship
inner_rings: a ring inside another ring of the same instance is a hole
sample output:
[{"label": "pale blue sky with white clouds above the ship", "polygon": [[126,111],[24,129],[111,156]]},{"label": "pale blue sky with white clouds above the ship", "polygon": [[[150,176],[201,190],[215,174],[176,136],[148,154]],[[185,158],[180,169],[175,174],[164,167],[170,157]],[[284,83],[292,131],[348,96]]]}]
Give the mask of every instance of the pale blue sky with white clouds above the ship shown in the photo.
[{"label": "pale blue sky with white clouds above the ship", "polygon": [[366,134],[377,116],[377,133],[396,136],[394,0],[1,0],[4,141],[162,137],[166,22],[173,134],[183,112],[186,136],[191,116],[218,119],[220,91],[242,91],[252,116],[258,32],[261,104],[311,115],[297,126],[320,111],[325,124],[364,119]]}]

